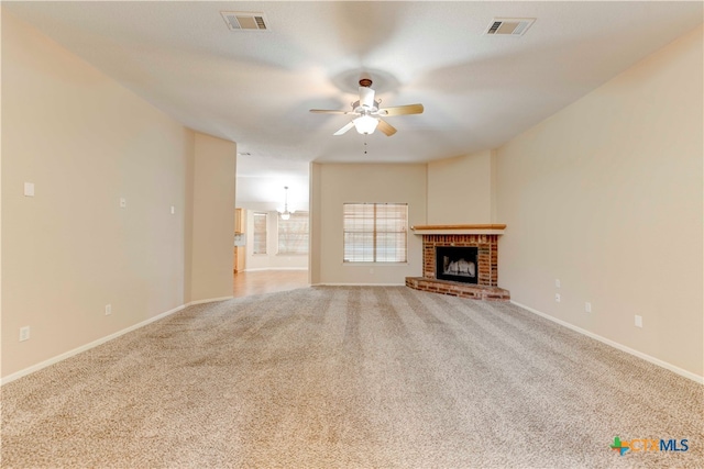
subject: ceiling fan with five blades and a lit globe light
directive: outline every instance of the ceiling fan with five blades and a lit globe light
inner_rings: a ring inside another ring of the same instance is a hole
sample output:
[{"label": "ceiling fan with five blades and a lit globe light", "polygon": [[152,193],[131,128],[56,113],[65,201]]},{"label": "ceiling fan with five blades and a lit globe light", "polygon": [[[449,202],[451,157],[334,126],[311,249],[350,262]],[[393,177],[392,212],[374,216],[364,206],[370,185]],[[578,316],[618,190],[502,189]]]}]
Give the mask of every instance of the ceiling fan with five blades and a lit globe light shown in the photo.
[{"label": "ceiling fan with five blades and a lit globe light", "polygon": [[333,111],[326,109],[311,109],[310,112],[324,113],[324,114],[349,114],[354,115],[354,119],[350,121],[345,126],[340,129],[333,135],[342,135],[352,127],[361,134],[373,134],[378,127],[386,136],[392,136],[396,133],[396,129],[393,125],[383,121],[382,116],[394,115],[408,115],[422,113],[422,104],[407,104],[397,105],[394,108],[380,108],[381,100],[374,100],[374,90],[371,88],[372,80],[369,78],[362,78],[360,80],[360,99],[352,103],[352,111]]}]

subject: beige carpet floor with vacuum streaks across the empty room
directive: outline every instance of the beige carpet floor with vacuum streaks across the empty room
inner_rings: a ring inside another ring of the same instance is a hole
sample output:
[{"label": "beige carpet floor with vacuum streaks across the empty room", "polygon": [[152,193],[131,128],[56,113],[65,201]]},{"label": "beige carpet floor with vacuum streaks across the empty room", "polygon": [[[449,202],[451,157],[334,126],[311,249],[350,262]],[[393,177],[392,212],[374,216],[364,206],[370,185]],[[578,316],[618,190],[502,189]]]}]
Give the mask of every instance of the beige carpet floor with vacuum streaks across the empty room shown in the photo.
[{"label": "beige carpet floor with vacuum streaks across the empty room", "polygon": [[[2,467],[703,467],[703,387],[509,303],[188,308],[2,387]],[[627,453],[614,437],[689,440]]]}]

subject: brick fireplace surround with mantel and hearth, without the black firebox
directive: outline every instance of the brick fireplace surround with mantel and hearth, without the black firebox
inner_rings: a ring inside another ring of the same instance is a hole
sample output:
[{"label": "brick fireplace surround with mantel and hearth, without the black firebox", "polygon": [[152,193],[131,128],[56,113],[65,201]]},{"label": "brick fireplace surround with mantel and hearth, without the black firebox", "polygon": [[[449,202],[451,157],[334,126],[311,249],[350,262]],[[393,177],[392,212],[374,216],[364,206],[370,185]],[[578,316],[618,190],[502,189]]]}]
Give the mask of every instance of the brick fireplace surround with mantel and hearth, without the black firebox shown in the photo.
[{"label": "brick fireplace surround with mantel and hearth, without the black firebox", "polygon": [[[462,227],[437,226],[437,230],[422,230],[424,277],[407,277],[406,286],[416,290],[451,294],[477,300],[509,300],[508,290],[498,288],[498,233],[496,227],[505,225],[463,225]],[[481,228],[477,228],[481,227]],[[420,230],[418,230],[420,228]],[[430,232],[439,232],[427,233]],[[457,233],[455,231],[475,231],[476,233]],[[491,232],[482,234],[481,232]],[[451,233],[451,234],[448,234]],[[477,283],[463,283],[436,278],[436,247],[458,246],[477,248]]]}]

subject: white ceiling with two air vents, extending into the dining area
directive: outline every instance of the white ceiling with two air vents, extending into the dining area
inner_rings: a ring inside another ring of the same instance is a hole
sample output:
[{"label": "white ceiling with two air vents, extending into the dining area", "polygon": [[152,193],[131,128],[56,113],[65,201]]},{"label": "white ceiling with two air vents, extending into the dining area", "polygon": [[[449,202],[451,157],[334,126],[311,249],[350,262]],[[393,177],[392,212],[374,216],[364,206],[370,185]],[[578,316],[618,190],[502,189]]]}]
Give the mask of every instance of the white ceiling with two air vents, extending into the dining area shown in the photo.
[{"label": "white ceiling with two air vents, extending into the dining area", "polygon": [[[417,163],[495,148],[702,23],[702,2],[2,2],[196,131],[238,143],[238,204],[307,204],[309,161]],[[230,31],[221,11],[263,12]],[[521,37],[494,18],[535,18]],[[398,133],[344,115],[369,74]],[[364,145],[366,143],[366,145]],[[364,154],[366,148],[367,154]]]}]

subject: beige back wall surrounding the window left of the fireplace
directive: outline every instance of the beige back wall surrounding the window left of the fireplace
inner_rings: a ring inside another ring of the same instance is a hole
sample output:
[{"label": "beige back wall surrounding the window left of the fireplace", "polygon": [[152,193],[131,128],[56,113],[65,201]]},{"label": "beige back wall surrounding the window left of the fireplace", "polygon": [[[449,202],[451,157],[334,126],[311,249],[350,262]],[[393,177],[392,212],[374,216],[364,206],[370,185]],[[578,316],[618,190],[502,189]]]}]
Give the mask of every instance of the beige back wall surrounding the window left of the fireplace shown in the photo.
[{"label": "beige back wall surrounding the window left of the fireplace", "polygon": [[408,234],[406,264],[343,263],[342,205],[408,204],[409,226],[426,223],[426,165],[314,165],[311,279],[315,283],[404,284],[422,275],[421,236]]}]

